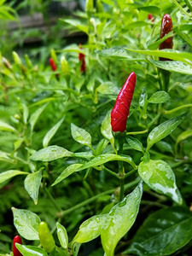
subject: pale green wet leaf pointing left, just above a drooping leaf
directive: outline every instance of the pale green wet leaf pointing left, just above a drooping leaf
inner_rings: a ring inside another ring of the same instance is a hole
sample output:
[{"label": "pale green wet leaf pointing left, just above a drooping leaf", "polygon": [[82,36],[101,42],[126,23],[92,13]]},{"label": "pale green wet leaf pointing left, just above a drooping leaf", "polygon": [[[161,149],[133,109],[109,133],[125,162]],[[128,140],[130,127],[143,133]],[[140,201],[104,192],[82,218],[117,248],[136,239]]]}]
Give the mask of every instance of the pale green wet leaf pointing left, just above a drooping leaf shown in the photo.
[{"label": "pale green wet leaf pointing left, just above a drooping leaf", "polygon": [[49,146],[38,150],[35,154],[30,157],[34,161],[52,161],[63,157],[71,156],[73,153],[68,151],[66,148],[59,146]]}]

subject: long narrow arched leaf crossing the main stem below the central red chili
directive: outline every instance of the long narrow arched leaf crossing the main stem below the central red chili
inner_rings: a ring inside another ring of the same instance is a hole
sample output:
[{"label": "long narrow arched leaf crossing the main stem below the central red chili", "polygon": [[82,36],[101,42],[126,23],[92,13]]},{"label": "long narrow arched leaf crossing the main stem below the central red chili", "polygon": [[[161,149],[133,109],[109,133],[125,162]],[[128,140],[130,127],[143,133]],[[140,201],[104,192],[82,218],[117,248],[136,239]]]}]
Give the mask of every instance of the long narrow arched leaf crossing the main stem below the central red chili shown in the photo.
[{"label": "long narrow arched leaf crossing the main stem below the central red chili", "polygon": [[84,164],[79,168],[79,171],[82,171],[84,169],[95,167],[95,166],[101,166],[109,161],[113,160],[119,160],[119,161],[125,161],[129,163],[133,168],[137,168],[134,161],[131,159],[131,156],[129,155],[118,155],[118,154],[101,154],[96,156],[94,159],[90,160],[88,163]]}]

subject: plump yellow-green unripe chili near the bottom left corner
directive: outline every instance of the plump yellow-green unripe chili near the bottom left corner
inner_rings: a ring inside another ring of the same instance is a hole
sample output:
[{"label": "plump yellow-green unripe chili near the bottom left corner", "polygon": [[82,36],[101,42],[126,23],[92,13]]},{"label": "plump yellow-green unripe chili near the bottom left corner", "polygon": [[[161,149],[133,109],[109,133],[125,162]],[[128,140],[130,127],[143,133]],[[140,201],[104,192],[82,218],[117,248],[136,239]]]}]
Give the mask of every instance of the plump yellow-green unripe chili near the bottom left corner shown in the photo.
[{"label": "plump yellow-green unripe chili near the bottom left corner", "polygon": [[50,234],[48,225],[42,221],[38,226],[38,236],[42,247],[47,253],[51,253],[55,248],[55,241]]}]

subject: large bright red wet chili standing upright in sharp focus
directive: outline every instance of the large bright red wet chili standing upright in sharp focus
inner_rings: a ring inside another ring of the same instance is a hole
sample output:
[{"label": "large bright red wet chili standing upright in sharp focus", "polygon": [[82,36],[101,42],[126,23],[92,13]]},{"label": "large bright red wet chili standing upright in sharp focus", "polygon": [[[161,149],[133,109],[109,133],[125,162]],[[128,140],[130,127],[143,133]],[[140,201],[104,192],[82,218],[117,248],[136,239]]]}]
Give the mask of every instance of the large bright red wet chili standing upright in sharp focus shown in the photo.
[{"label": "large bright red wet chili standing upright in sharp focus", "polygon": [[126,119],[130,112],[131,100],[136,84],[136,74],[132,72],[125,81],[124,86],[119,91],[115,105],[111,112],[112,131],[124,132],[126,129]]}]

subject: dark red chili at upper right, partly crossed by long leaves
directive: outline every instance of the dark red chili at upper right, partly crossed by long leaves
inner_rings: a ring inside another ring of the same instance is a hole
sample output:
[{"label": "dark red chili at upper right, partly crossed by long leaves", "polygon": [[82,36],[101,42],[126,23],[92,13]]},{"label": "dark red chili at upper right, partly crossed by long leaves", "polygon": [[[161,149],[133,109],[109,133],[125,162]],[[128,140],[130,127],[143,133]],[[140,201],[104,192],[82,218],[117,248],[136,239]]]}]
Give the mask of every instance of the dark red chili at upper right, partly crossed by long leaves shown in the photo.
[{"label": "dark red chili at upper right, partly crossed by long leaves", "polygon": [[[161,20],[160,28],[160,39],[164,38],[166,34],[172,31],[172,18],[170,15],[164,15]],[[163,43],[160,44],[159,49],[172,49],[173,42],[172,38],[167,38]],[[170,61],[170,59],[160,58],[160,61]]]}]

